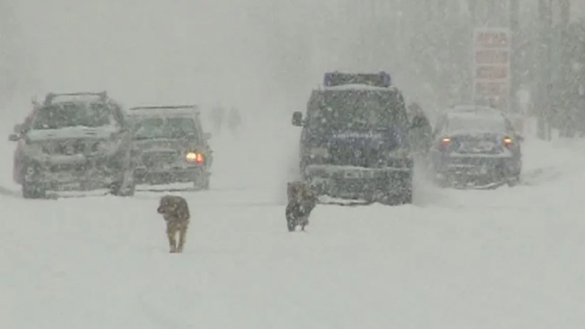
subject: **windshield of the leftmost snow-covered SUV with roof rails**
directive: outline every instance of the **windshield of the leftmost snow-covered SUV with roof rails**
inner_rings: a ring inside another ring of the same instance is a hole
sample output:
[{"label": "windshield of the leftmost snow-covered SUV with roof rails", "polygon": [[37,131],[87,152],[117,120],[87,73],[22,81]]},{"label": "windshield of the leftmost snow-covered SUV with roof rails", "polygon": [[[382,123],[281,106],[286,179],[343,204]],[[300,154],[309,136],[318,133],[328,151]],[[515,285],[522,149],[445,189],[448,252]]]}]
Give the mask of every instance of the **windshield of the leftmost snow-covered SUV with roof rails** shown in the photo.
[{"label": "windshield of the leftmost snow-covered SUV with roof rails", "polygon": [[116,123],[112,109],[103,103],[57,103],[44,106],[36,113],[32,129],[66,127],[102,127]]}]

